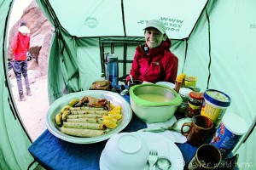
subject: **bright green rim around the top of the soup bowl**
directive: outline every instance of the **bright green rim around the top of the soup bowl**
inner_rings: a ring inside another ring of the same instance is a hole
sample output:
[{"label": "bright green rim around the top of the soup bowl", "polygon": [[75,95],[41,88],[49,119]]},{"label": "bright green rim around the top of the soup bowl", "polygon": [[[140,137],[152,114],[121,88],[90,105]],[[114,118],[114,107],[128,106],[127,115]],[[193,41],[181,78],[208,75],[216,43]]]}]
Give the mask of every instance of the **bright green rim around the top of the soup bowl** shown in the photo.
[{"label": "bright green rim around the top of the soup bowl", "polygon": [[[155,86],[155,87],[160,87],[160,88],[166,88],[172,92],[172,94],[175,96],[175,98],[170,101],[155,102],[155,101],[148,101],[146,99],[141,99],[141,98],[137,97],[136,94],[134,94],[134,91],[136,91],[137,88],[146,87],[146,86]],[[129,93],[130,93],[131,99],[133,99],[133,101],[135,103],[142,105],[142,106],[153,107],[153,106],[180,105],[183,101],[183,99],[180,97],[179,94],[177,94],[177,92],[174,89],[169,88],[164,85],[159,85],[159,84],[139,84],[136,86],[132,86],[129,90]]]}]

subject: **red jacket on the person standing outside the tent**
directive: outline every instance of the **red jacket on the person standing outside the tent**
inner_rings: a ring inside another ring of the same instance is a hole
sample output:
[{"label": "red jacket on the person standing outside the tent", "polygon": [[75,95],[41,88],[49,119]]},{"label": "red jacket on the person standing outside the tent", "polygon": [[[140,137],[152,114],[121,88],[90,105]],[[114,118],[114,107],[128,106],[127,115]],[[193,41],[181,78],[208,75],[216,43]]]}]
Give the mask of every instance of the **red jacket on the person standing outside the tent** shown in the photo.
[{"label": "red jacket on the person standing outside the tent", "polygon": [[23,36],[20,31],[15,34],[12,42],[12,52],[15,60],[26,60],[26,52],[30,46],[30,36]]}]

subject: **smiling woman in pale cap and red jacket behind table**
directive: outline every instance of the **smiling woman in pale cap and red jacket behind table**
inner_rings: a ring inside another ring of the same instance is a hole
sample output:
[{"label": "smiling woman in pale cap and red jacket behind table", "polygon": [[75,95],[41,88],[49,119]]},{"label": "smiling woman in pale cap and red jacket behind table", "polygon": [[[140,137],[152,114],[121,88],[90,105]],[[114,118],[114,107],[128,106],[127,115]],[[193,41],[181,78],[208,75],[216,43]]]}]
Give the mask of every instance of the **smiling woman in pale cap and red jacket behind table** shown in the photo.
[{"label": "smiling woman in pale cap and red jacket behind table", "polygon": [[[144,28],[145,44],[136,48],[130,75],[141,82],[172,82],[177,77],[178,59],[172,54],[171,40],[160,20],[149,20]],[[126,82],[130,81],[126,77]]]}]

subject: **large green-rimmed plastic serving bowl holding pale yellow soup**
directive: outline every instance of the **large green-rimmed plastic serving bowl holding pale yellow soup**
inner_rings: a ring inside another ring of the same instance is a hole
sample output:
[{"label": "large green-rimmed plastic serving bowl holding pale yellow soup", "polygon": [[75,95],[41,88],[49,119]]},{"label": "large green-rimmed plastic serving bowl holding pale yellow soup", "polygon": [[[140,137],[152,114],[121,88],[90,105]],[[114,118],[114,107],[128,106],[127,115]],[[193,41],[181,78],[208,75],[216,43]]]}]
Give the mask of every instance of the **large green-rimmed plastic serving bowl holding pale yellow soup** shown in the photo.
[{"label": "large green-rimmed plastic serving bowl holding pale yellow soup", "polygon": [[[182,103],[182,98],[174,89],[163,85],[140,84],[132,86],[129,93],[132,111],[148,123],[168,121]],[[142,97],[145,95],[151,97]]]}]

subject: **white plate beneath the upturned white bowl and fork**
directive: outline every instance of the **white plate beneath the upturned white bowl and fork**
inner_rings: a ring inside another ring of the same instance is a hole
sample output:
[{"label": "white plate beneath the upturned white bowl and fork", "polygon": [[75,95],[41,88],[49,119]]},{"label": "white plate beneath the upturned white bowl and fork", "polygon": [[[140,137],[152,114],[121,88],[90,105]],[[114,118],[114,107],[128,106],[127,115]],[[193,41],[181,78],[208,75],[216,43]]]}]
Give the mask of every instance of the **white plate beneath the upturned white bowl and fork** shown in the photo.
[{"label": "white plate beneath the upturned white bowl and fork", "polygon": [[[165,136],[160,135],[158,133],[150,133],[150,132],[134,132],[134,134],[137,134],[139,137],[143,138],[150,149],[150,146],[161,142],[166,142],[166,144],[169,146],[169,158],[172,162],[172,167],[169,170],[183,170],[184,166],[184,160],[183,160],[183,155],[179,148],[177,147],[176,144],[172,142],[172,140],[167,139]],[[161,150],[161,145],[154,145],[158,150]],[[106,160],[105,157],[103,156],[104,150],[102,150],[102,155],[100,157],[100,169],[101,170],[110,170],[106,166]],[[132,163],[132,162],[131,162]],[[148,170],[148,165],[147,167],[144,168],[144,170]],[[158,167],[156,167],[156,170],[160,170]]]}]

